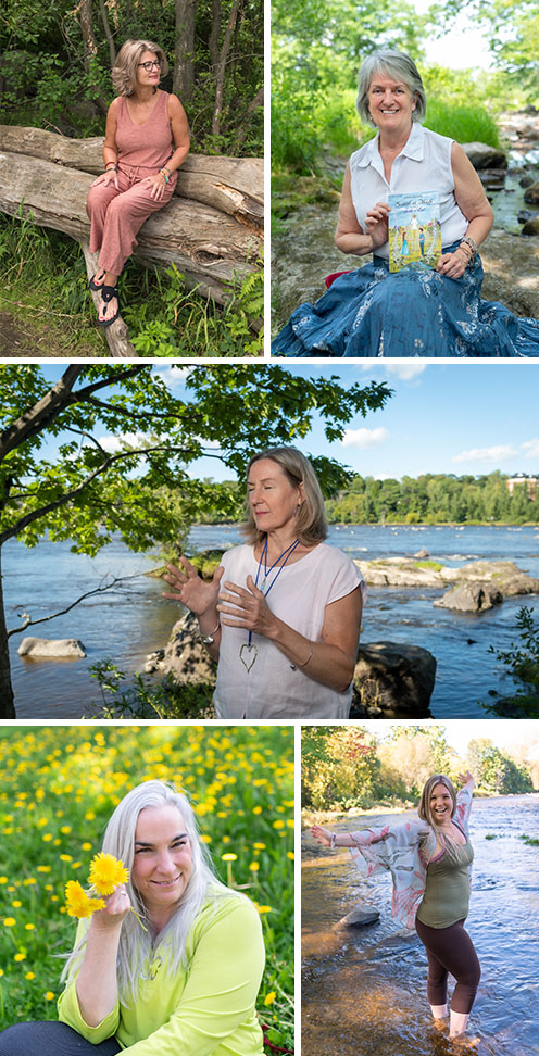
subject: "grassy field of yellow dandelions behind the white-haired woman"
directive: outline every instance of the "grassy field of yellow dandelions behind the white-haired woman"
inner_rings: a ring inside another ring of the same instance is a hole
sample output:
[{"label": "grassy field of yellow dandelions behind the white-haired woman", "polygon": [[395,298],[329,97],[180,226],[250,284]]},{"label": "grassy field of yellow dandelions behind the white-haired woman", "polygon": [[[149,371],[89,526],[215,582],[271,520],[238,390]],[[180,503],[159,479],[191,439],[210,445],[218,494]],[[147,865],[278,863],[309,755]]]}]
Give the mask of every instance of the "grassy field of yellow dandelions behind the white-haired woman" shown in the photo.
[{"label": "grassy field of yellow dandelions behind the white-haired woman", "polygon": [[293,729],[10,725],[0,728],[0,1030],[55,1019],[76,921],[68,880],[86,883],[123,795],[159,778],[187,792],[224,883],[261,915],[259,1015],[293,1047]]}]

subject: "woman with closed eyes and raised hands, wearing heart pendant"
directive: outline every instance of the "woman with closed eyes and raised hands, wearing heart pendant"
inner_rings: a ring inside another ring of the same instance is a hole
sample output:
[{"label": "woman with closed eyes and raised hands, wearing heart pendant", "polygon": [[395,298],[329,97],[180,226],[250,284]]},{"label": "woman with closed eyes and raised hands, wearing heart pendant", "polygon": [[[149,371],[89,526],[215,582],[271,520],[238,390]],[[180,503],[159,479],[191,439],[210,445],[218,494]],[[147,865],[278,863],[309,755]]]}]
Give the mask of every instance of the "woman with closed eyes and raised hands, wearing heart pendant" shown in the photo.
[{"label": "woman with closed eyes and raised hands, wearing heart pendant", "polygon": [[324,500],[291,447],[251,458],[242,546],[204,583],[187,558],[165,594],[196,613],[218,659],[217,718],[348,718],[365,584],[324,540]]}]

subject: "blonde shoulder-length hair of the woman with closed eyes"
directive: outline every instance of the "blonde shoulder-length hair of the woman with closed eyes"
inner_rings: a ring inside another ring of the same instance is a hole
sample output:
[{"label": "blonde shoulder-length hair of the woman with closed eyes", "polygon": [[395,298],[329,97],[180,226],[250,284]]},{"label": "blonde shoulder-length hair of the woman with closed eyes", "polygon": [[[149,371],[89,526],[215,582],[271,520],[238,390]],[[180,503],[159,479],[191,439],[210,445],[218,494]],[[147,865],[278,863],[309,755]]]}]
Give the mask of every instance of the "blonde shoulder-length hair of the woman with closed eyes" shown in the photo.
[{"label": "blonde shoulder-length hair of the woman with closed eyes", "polygon": [[[298,510],[296,518],[296,535],[303,546],[312,546],[313,543],[322,542],[327,537],[326,511],[324,499],[316,477],[316,474],[305,455],[297,448],[281,447],[267,448],[253,455],[247,467],[247,479],[251,466],[261,458],[270,458],[284,470],[292,488],[303,485],[304,500]],[[256,527],[253,513],[249,503],[249,494],[246,495],[246,523],[241,527],[241,533],[248,543],[254,545],[265,539],[265,531]]]}]

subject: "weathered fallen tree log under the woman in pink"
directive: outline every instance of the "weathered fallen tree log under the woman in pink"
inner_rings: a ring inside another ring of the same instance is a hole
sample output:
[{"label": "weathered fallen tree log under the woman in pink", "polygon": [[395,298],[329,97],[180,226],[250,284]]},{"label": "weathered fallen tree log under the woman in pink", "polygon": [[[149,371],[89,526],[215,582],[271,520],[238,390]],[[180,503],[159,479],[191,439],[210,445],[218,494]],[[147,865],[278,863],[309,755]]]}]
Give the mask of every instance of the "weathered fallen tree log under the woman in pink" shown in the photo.
[{"label": "weathered fallen tree log under the woman in pink", "polygon": [[[103,168],[103,140],[71,140],[9,125],[0,126],[0,210],[71,235],[92,274],[97,257],[89,253],[85,203]],[[185,165],[180,193],[146,221],[134,255],[145,264],[175,264],[188,287],[223,304],[229,284],[259,266],[262,161],[193,156]],[[104,335],[113,356],[136,355],[122,318]]]}]

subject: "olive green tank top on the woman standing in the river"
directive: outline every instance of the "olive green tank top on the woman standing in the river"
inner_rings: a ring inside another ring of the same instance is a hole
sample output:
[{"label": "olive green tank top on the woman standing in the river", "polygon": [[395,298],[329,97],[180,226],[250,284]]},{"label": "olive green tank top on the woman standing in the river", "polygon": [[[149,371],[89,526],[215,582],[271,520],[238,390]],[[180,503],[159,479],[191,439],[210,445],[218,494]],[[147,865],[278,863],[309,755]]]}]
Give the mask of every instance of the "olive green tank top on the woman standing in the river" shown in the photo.
[{"label": "olive green tank top on the woman standing in the river", "polygon": [[464,846],[447,846],[427,866],[425,894],[417,919],[428,928],[450,928],[464,920],[469,906],[469,871],[474,852],[469,840]]}]

